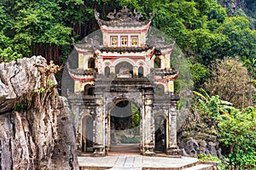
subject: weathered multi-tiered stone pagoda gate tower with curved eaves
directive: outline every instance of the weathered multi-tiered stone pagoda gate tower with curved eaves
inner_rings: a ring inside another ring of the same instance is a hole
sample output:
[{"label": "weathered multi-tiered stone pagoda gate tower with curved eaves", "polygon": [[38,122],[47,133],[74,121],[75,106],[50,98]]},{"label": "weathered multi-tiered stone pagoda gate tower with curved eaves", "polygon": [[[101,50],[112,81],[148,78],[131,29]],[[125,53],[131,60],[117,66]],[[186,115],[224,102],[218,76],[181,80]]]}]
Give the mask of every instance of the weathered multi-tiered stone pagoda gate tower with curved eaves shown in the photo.
[{"label": "weathered multi-tiered stone pagoda gate tower with curved eaves", "polygon": [[141,21],[141,13],[123,7],[109,13],[109,20],[101,20],[95,11],[99,36],[74,44],[78,67],[67,65],[74,82],[74,91],[67,94],[79,151],[108,155],[116,142],[113,130],[131,127],[134,105],[140,118],[137,151],[145,156],[158,151],[177,156],[174,42],[148,36],[153,15]]}]

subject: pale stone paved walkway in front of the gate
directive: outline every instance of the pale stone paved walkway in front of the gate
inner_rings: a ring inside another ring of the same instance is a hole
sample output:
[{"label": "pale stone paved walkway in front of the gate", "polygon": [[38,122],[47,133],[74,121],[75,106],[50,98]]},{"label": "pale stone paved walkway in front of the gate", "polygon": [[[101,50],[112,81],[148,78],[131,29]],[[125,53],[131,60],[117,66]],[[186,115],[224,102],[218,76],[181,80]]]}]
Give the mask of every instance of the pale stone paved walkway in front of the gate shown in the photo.
[{"label": "pale stone paved walkway in front of the gate", "polygon": [[87,167],[88,169],[141,170],[143,167],[180,168],[189,164],[195,164],[197,161],[197,159],[191,157],[170,158],[156,156],[79,156],[79,167]]}]

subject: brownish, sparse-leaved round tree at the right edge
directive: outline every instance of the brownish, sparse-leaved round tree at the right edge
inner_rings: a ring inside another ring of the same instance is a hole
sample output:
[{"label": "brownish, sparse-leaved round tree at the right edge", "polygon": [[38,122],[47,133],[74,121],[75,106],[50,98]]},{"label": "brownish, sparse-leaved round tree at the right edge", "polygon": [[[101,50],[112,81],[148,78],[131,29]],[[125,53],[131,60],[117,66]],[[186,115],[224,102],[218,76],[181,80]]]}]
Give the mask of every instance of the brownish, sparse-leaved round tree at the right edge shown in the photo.
[{"label": "brownish, sparse-leaved round tree at the right edge", "polygon": [[247,68],[236,57],[217,59],[211,65],[212,77],[206,83],[211,95],[218,94],[221,99],[233,103],[237,108],[249,105],[249,80]]}]

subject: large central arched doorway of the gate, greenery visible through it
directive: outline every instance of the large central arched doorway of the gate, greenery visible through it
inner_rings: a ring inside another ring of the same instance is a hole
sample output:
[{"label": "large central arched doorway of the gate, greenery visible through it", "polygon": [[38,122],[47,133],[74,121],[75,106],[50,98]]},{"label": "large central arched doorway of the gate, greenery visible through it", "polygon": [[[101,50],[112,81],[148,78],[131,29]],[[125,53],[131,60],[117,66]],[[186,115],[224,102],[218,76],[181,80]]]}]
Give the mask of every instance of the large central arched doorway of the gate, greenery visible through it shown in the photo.
[{"label": "large central arched doorway of the gate, greenery visible through it", "polygon": [[140,110],[128,99],[115,102],[109,114],[110,151],[140,152]]}]

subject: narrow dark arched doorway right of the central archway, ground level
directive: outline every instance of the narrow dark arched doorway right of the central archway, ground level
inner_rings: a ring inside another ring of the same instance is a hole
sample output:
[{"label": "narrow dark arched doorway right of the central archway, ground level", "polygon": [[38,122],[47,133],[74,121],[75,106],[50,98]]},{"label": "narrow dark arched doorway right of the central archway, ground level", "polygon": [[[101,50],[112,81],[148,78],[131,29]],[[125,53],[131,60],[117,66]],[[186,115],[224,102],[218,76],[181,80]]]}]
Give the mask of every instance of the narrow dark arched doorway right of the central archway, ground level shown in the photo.
[{"label": "narrow dark arched doorway right of the central archway, ground level", "polygon": [[166,152],[166,117],[162,115],[154,117],[154,150]]}]

